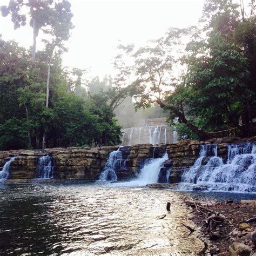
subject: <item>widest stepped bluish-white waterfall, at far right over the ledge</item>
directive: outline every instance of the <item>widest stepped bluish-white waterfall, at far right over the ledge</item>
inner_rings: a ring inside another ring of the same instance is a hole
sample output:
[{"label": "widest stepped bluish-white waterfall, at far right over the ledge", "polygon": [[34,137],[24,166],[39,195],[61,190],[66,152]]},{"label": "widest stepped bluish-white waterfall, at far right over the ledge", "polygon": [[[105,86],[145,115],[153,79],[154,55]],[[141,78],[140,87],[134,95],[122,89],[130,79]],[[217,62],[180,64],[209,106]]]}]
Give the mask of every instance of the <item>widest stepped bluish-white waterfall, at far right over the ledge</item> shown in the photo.
[{"label": "widest stepped bluish-white waterfall, at far right over the ledge", "polygon": [[228,160],[224,164],[217,156],[217,145],[201,145],[199,158],[181,177],[180,188],[256,192],[255,151],[253,143],[228,145]]}]

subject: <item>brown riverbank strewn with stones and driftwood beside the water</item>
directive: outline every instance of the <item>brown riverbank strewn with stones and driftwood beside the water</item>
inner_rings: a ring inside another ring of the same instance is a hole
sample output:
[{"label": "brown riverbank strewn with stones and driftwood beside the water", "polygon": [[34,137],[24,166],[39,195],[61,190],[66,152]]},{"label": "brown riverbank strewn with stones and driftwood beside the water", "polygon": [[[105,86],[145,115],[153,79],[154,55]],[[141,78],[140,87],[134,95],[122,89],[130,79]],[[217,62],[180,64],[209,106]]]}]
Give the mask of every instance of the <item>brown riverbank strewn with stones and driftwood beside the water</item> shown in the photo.
[{"label": "brown riverbank strewn with stones and driftwood beside the water", "polygon": [[191,220],[199,228],[199,237],[207,243],[212,254],[238,255],[231,254],[237,250],[244,250],[242,255],[256,253],[255,200],[207,204],[195,200],[185,201],[185,204],[193,208]]}]

